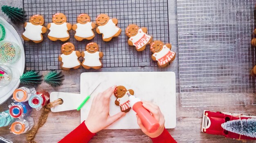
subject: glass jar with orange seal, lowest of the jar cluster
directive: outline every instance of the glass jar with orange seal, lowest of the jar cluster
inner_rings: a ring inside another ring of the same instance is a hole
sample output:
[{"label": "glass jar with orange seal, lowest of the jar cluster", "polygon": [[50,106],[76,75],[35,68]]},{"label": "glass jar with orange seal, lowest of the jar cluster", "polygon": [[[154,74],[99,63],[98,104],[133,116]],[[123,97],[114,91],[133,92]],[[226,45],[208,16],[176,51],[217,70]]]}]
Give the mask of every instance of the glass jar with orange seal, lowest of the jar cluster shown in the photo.
[{"label": "glass jar with orange seal, lowest of the jar cluster", "polygon": [[30,116],[18,119],[11,124],[11,132],[13,134],[23,134],[31,130],[34,126],[34,119]]}]

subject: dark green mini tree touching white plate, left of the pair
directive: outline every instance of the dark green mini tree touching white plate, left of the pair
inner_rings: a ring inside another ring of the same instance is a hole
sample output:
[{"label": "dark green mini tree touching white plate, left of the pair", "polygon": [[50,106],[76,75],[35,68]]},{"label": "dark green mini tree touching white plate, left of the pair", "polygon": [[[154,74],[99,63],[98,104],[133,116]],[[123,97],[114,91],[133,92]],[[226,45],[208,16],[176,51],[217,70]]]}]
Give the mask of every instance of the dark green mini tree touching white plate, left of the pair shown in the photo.
[{"label": "dark green mini tree touching white plate, left of the pair", "polygon": [[42,83],[41,77],[42,75],[39,75],[39,72],[29,71],[20,76],[20,83],[24,85],[37,85]]}]

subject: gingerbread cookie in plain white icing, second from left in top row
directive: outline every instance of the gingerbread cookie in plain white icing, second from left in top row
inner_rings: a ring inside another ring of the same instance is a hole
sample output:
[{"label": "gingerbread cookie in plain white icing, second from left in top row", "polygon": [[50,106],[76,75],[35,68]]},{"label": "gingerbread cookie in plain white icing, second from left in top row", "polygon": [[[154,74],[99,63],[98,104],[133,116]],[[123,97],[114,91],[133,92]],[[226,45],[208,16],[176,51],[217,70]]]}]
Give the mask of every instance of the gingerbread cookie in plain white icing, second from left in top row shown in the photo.
[{"label": "gingerbread cookie in plain white icing, second from left in top row", "polygon": [[52,41],[67,41],[70,39],[69,30],[71,30],[72,25],[67,23],[67,18],[63,13],[56,13],[52,16],[52,23],[47,25],[50,30],[48,33],[48,38]]}]

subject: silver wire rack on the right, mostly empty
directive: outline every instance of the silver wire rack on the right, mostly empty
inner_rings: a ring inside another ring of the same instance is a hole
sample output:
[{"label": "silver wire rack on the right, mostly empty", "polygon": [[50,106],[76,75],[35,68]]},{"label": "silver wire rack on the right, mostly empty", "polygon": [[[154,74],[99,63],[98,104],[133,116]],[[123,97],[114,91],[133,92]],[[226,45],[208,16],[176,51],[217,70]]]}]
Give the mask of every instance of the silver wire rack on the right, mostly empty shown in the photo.
[{"label": "silver wire rack on the right, mostly empty", "polygon": [[256,104],[255,0],[177,0],[181,106]]}]

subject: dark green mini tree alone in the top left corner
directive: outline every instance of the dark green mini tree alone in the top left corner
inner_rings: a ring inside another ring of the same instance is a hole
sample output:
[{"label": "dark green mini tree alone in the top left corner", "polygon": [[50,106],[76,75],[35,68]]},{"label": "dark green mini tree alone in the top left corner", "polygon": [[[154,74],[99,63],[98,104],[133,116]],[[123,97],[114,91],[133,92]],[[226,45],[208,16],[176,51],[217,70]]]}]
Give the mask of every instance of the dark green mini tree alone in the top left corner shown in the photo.
[{"label": "dark green mini tree alone in the top left corner", "polygon": [[2,6],[2,12],[6,14],[13,22],[23,22],[24,17],[24,11],[23,9],[19,9],[18,7],[11,7],[4,5]]}]

